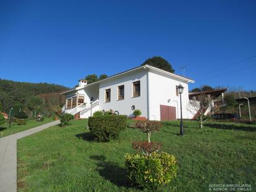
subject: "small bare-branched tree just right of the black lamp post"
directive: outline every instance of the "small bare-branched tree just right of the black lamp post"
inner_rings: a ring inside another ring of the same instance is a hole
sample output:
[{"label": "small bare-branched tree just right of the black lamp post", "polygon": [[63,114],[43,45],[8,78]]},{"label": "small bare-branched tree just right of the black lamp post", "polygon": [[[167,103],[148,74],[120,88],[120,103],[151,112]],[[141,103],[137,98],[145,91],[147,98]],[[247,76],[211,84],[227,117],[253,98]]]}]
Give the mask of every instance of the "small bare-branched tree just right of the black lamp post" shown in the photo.
[{"label": "small bare-branched tree just right of the black lamp post", "polygon": [[[188,111],[197,117],[199,128],[203,128],[204,122],[208,121],[214,112],[214,98],[209,94],[198,94],[190,100]],[[205,113],[208,112],[207,116]]]}]

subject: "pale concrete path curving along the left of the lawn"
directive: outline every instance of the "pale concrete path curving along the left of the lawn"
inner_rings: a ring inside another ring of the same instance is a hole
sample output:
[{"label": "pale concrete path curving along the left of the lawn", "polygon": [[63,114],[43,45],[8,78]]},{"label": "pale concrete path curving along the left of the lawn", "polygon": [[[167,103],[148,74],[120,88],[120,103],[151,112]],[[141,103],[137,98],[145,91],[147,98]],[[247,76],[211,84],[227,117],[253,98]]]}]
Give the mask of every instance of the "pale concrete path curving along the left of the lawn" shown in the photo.
[{"label": "pale concrete path curving along the left of the lawn", "polygon": [[59,123],[49,122],[0,139],[0,192],[17,191],[17,140]]}]

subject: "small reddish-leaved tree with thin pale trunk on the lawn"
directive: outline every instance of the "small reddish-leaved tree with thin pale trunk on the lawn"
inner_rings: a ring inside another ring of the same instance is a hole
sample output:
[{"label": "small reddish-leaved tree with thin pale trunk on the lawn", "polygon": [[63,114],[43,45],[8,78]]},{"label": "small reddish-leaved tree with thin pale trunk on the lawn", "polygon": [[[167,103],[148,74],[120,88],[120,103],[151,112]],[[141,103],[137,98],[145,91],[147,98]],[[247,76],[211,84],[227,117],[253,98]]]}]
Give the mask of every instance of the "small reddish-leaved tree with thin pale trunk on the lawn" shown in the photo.
[{"label": "small reddish-leaved tree with thin pale trunk on the lawn", "polygon": [[135,127],[147,134],[147,140],[150,143],[150,136],[158,132],[158,130],[162,127],[162,124],[159,121],[144,120],[137,121]]}]

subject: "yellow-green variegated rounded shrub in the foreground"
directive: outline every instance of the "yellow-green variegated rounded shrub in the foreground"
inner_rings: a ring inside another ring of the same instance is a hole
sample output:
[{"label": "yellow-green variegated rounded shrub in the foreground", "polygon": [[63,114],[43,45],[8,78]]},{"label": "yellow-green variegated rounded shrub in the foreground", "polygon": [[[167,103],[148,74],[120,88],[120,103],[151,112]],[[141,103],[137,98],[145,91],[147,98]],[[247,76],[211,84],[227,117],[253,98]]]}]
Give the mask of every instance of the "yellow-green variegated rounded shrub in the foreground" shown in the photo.
[{"label": "yellow-green variegated rounded shrub in the foreground", "polygon": [[153,152],[150,155],[126,155],[128,178],[137,185],[155,189],[167,185],[176,177],[178,165],[173,155]]}]

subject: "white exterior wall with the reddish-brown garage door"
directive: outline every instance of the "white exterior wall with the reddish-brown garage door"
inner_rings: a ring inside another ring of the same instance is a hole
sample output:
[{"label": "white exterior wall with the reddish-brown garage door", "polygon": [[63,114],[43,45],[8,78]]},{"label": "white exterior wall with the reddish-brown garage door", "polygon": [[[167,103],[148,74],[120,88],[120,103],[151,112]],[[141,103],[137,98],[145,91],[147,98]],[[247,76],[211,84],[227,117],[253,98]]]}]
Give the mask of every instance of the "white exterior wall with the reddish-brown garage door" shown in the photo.
[{"label": "white exterior wall with the reddish-brown garage door", "polygon": [[[157,71],[149,71],[149,119],[160,120],[160,105],[176,107],[176,118],[180,118],[180,95],[176,96],[176,86],[184,87],[181,94],[182,99],[182,115],[184,119],[190,116],[187,110],[188,106],[188,83],[170,78]],[[170,99],[170,102],[168,100]]]}]

